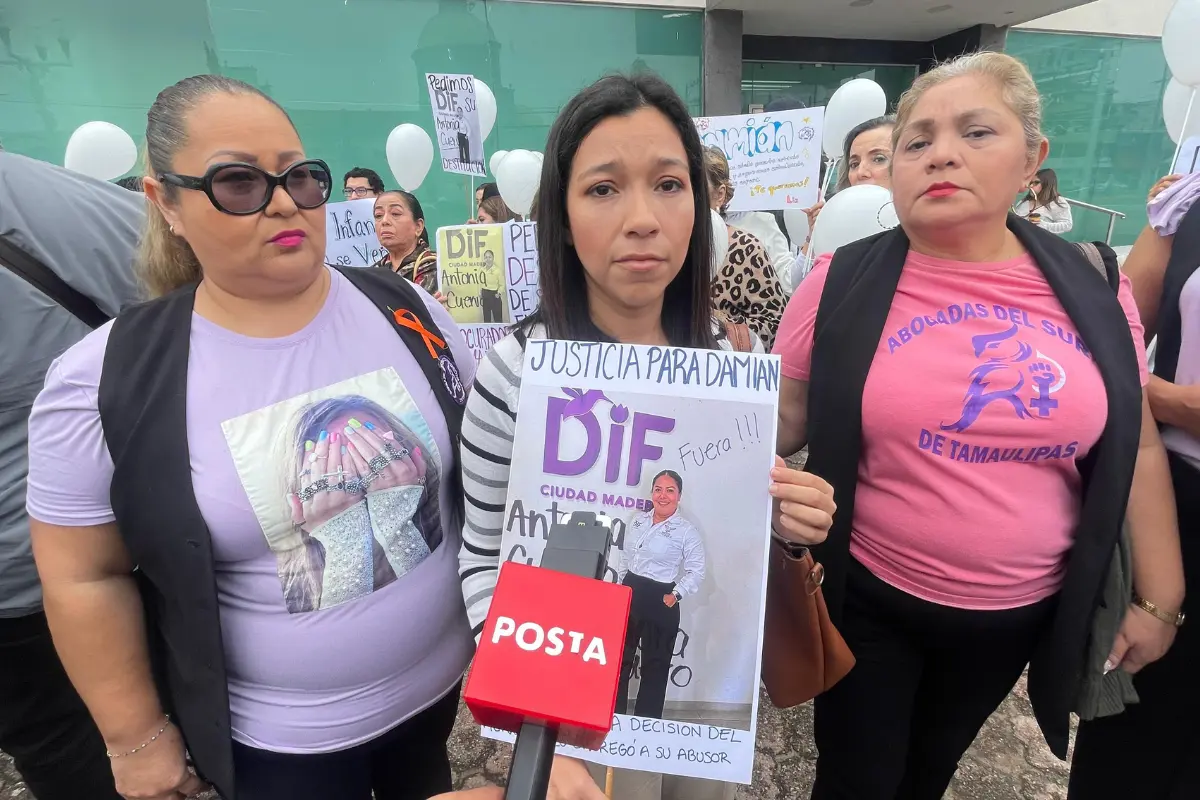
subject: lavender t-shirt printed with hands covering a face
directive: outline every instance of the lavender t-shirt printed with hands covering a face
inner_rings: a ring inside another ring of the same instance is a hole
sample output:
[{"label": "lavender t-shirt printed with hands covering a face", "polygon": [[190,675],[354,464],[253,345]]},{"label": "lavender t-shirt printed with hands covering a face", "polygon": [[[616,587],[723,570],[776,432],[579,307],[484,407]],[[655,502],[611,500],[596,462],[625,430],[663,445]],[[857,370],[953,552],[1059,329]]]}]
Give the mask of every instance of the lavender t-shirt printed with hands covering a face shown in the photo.
[{"label": "lavender t-shirt printed with hands covering a face", "polygon": [[[445,696],[473,650],[437,398],[390,321],[330,275],[324,307],[292,336],[239,336],[193,314],[187,366],[233,736],[284,753],[386,732]],[[469,385],[457,326],[426,305]],[[28,509],[42,522],[114,519],[96,407],[108,331],[67,350],[34,405]]]}]

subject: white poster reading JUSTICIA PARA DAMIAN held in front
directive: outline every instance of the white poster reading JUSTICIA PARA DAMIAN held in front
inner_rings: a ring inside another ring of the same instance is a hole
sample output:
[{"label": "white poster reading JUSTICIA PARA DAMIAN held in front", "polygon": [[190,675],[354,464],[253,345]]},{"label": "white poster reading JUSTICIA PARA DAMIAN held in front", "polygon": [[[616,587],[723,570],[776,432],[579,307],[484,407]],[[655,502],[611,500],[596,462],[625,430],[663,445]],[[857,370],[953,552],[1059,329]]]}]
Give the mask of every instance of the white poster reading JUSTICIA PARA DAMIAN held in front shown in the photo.
[{"label": "white poster reading JUSTICIA PARA DAMIAN held in front", "polygon": [[778,356],[529,342],[502,558],[538,564],[553,521],[602,512],[605,579],[634,593],[612,732],[559,752],[750,782],[779,377]]}]

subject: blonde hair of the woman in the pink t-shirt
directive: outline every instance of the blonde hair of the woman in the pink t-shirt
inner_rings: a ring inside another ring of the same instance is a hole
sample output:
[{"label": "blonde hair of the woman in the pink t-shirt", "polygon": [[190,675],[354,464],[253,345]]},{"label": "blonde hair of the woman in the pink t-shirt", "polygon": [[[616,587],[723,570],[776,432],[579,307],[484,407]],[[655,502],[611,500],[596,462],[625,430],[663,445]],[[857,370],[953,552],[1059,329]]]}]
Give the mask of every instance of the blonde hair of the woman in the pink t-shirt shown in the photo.
[{"label": "blonde hair of the woman in the pink t-shirt", "polygon": [[1030,157],[1034,157],[1045,137],[1042,134],[1042,95],[1033,83],[1028,67],[1004,53],[982,50],[960,55],[917,78],[912,86],[900,97],[896,107],[896,127],[892,133],[892,149],[899,149],[900,134],[908,125],[908,118],[922,96],[934,86],[955,78],[990,78],[1000,86],[1004,104],[1018,119],[1025,132],[1025,148]]}]

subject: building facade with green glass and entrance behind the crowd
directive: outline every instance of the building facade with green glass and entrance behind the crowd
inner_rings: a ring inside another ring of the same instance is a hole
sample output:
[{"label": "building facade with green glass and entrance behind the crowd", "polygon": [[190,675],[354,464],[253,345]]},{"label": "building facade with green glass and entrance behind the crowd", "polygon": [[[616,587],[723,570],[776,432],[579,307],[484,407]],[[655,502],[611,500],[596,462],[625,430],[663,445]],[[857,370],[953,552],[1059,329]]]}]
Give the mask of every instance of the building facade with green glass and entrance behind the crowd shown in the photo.
[{"label": "building facade with green glass and entrance behind the crowd", "polygon": [[[292,114],[338,175],[389,181],[392,127],[432,130],[426,72],[472,73],[497,96],[488,152],[540,150],[563,103],[613,71],[653,70],[695,114],[824,104],[846,80],[894,103],[920,70],[978,48],[1026,60],[1046,102],[1069,197],[1130,215],[1172,152],[1157,36],[1172,0],[0,0],[0,142],[61,163],[72,131],[106,120],[142,139],[166,85],[220,72]],[[1060,12],[1045,16],[1048,12]],[[470,182],[434,167],[418,192],[431,225],[474,212]],[[1103,237],[1081,212],[1076,234]]]}]

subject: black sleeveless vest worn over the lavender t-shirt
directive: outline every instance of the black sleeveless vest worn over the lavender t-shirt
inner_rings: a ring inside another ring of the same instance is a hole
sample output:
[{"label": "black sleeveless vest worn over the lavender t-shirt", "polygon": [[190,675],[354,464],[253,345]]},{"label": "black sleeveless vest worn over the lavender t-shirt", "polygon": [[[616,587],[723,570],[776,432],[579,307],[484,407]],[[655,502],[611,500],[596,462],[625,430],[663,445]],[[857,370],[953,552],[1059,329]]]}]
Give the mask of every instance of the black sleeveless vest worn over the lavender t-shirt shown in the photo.
[{"label": "black sleeveless vest worn over the lavender t-shirt", "polygon": [[[420,294],[392,272],[337,269],[391,320],[433,389],[457,451],[467,392]],[[196,285],[184,287],[116,318],[104,350],[100,417],[113,457],[113,513],[137,564],[158,696],[197,771],[221,796],[236,800],[212,542],[192,491],[187,445],[194,299]],[[444,347],[397,323],[396,312],[403,311]],[[455,463],[457,476],[457,456]],[[461,506],[462,492],[451,492]],[[461,509],[454,517],[462,518]]]}]

